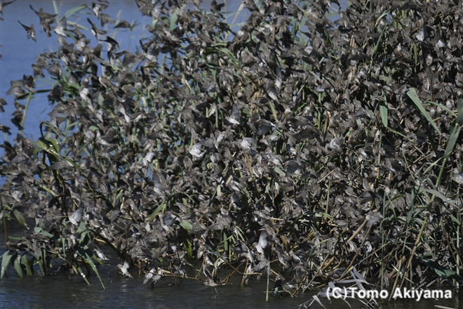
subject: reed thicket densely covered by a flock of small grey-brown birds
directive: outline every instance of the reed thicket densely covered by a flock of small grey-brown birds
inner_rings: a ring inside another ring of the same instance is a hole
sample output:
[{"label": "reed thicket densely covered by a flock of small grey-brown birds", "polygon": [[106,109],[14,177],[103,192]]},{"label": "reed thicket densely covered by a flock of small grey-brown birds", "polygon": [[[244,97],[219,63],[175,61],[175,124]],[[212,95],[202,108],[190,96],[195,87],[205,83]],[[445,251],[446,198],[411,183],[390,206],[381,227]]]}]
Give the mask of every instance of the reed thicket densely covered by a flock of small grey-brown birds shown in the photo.
[{"label": "reed thicket densely covered by a flock of small grey-brown birds", "polygon": [[1,145],[5,230],[35,220],[7,236],[2,276],[98,275],[112,248],[146,282],[270,268],[293,294],[353,266],[385,288],[463,282],[458,1],[356,0],[333,22],[330,1],[245,0],[243,25],[215,1],[135,1],[152,25],[131,52],[95,25],[104,4],[96,46],[37,13],[62,46],[12,81],[13,124],[47,72],[54,108],[38,140]]}]

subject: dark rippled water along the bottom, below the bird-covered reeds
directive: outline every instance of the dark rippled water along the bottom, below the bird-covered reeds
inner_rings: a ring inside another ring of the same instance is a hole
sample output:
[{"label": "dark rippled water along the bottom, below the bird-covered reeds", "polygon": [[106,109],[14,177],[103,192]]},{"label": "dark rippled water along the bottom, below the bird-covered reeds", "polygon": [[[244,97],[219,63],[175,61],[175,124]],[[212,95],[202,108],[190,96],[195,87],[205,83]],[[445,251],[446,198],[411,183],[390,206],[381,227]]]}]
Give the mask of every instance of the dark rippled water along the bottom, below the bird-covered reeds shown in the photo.
[{"label": "dark rippled water along the bottom, below the bird-covered reeds", "polygon": [[[11,269],[12,270],[12,269]],[[142,285],[142,278],[121,278],[116,263],[99,268],[106,289],[103,290],[96,277],[86,285],[76,275],[51,275],[49,277],[20,278],[8,270],[9,278],[0,280],[0,303],[2,308],[296,308],[311,298],[314,292],[297,297],[273,296],[265,302],[265,280],[250,281],[248,287],[240,287],[241,278],[235,277],[224,287],[204,287],[202,282],[163,278],[156,287]],[[135,275],[135,274],[134,274]],[[397,301],[382,303],[380,308],[422,309],[434,304],[450,308],[462,308],[456,294],[453,300],[444,301]],[[326,308],[348,308],[343,301],[329,302],[321,298]],[[349,301],[352,308],[362,308],[356,301]],[[311,308],[321,308],[314,303]]]}]

